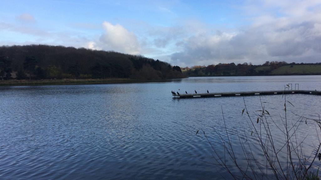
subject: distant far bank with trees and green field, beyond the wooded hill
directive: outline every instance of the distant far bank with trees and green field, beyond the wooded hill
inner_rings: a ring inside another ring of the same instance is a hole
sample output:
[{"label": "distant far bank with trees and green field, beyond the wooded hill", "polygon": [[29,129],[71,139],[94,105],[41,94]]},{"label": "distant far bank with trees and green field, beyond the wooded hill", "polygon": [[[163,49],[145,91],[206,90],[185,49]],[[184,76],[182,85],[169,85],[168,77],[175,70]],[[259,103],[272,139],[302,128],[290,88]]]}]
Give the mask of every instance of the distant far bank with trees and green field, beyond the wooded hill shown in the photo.
[{"label": "distant far bank with trees and green field, beyond the wooded hill", "polygon": [[185,76],[273,76],[273,75],[321,75],[321,63],[287,63],[266,61],[262,65],[251,63],[194,66],[182,68]]}]

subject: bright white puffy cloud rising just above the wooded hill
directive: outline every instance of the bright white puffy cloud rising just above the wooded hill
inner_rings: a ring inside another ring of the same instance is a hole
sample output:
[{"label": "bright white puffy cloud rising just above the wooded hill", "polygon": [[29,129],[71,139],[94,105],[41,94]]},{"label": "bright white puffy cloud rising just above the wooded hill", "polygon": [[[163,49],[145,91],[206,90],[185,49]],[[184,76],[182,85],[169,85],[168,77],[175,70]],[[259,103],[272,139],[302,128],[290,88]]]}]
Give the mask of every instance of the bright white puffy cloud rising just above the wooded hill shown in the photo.
[{"label": "bright white puffy cloud rising just above the wooded hill", "polygon": [[140,45],[133,32],[129,32],[119,24],[113,25],[107,21],[103,22],[102,26],[105,32],[97,42],[91,42],[88,48],[128,54],[139,54],[141,52]]}]

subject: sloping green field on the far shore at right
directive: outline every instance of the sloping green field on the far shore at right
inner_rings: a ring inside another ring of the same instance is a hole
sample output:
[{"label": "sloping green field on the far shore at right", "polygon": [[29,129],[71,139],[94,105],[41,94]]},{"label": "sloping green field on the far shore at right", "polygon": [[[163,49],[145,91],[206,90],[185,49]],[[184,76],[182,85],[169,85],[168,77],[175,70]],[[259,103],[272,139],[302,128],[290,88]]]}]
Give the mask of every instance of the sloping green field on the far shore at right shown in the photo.
[{"label": "sloping green field on the far shore at right", "polygon": [[321,65],[287,65],[271,72],[271,75],[278,74],[321,74]]}]

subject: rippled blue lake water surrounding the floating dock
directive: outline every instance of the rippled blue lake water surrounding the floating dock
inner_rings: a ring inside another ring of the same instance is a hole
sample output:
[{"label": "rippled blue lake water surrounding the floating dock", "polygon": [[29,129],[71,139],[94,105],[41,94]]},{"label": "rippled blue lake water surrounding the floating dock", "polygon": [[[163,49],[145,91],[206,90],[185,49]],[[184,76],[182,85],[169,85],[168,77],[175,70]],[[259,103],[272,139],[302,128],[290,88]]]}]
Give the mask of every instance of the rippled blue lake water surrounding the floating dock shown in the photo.
[{"label": "rippled blue lake water surrounding the floating dock", "polygon": [[[0,179],[216,179],[213,128],[246,129],[243,97],[172,98],[181,93],[321,90],[321,76],[187,78],[162,83],[0,87]],[[290,94],[291,113],[320,112],[321,96]],[[275,119],[282,95],[261,96]],[[249,112],[259,96],[246,96]],[[221,109],[222,108],[222,109]],[[309,122],[299,136],[316,137]],[[232,132],[231,132],[232,133]],[[280,133],[275,130],[275,133]],[[276,140],[277,141],[277,140]],[[313,138],[309,139],[313,141]],[[311,151],[311,147],[307,147]]]}]

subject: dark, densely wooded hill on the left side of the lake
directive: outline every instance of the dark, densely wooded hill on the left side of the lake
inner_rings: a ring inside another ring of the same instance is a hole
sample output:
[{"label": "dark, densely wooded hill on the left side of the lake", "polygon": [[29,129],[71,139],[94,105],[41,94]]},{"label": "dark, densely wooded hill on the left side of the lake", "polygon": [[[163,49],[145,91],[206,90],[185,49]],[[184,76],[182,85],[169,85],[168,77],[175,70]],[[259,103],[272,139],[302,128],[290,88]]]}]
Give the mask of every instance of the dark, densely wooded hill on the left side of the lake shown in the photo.
[{"label": "dark, densely wooded hill on the left side of the lake", "polygon": [[184,78],[180,67],[141,55],[50,45],[0,46],[0,79]]}]

